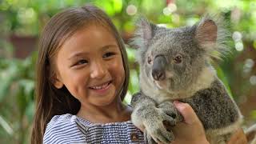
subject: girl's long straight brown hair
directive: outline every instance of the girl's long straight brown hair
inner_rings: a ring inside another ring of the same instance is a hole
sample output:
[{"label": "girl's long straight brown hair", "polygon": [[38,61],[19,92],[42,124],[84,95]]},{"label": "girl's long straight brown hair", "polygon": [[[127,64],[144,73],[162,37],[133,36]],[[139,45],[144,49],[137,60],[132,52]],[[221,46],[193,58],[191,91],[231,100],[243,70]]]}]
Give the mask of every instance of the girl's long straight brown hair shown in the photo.
[{"label": "girl's long straight brown hair", "polygon": [[107,27],[118,42],[126,75],[120,92],[121,99],[124,99],[129,83],[127,55],[122,38],[110,18],[98,7],[92,5],[70,8],[55,14],[46,24],[39,41],[32,144],[42,143],[46,124],[54,115],[78,113],[80,102],[70,94],[65,86],[57,89],[53,84],[55,73],[53,59],[66,38],[70,38],[77,30],[93,23]]}]

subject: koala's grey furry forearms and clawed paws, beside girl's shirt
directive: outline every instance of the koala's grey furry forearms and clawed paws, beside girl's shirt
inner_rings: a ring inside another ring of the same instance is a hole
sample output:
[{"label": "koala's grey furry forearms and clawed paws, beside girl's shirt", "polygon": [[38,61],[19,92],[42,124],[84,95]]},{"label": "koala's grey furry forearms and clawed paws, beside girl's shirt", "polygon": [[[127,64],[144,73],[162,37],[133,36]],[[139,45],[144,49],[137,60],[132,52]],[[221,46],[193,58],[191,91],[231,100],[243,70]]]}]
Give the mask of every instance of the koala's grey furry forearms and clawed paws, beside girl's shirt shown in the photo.
[{"label": "koala's grey furry forearms and clawed paws, beside girl's shirt", "polygon": [[158,105],[141,92],[133,96],[131,106],[133,107],[131,120],[140,130],[144,130],[144,138],[147,142],[170,143],[174,140],[174,134],[166,130],[166,126],[176,124],[176,109],[172,102]]}]

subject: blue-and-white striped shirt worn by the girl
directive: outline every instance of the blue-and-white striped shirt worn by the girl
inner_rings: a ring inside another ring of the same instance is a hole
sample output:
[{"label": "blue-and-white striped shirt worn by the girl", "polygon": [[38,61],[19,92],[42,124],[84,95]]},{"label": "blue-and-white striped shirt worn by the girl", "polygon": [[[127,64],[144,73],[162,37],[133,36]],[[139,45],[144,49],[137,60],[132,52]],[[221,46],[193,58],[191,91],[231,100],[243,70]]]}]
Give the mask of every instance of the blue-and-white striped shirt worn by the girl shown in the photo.
[{"label": "blue-and-white striped shirt worn by the girl", "polygon": [[44,144],[145,143],[132,122],[91,123],[72,114],[55,115],[46,126]]}]

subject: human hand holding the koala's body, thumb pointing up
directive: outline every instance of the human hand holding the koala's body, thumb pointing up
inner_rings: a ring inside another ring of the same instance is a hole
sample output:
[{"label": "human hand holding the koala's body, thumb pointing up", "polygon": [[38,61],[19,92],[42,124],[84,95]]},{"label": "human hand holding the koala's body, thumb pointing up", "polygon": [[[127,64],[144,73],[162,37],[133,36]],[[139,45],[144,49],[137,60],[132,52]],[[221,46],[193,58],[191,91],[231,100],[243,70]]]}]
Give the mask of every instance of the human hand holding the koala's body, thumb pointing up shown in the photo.
[{"label": "human hand holding the koala's body, thumb pointing up", "polygon": [[197,114],[194,113],[192,107],[187,103],[174,101],[174,106],[182,114],[183,122],[178,122],[172,128],[175,140],[172,144],[204,144],[209,142],[206,139],[206,133],[202,123],[198,119]]}]

